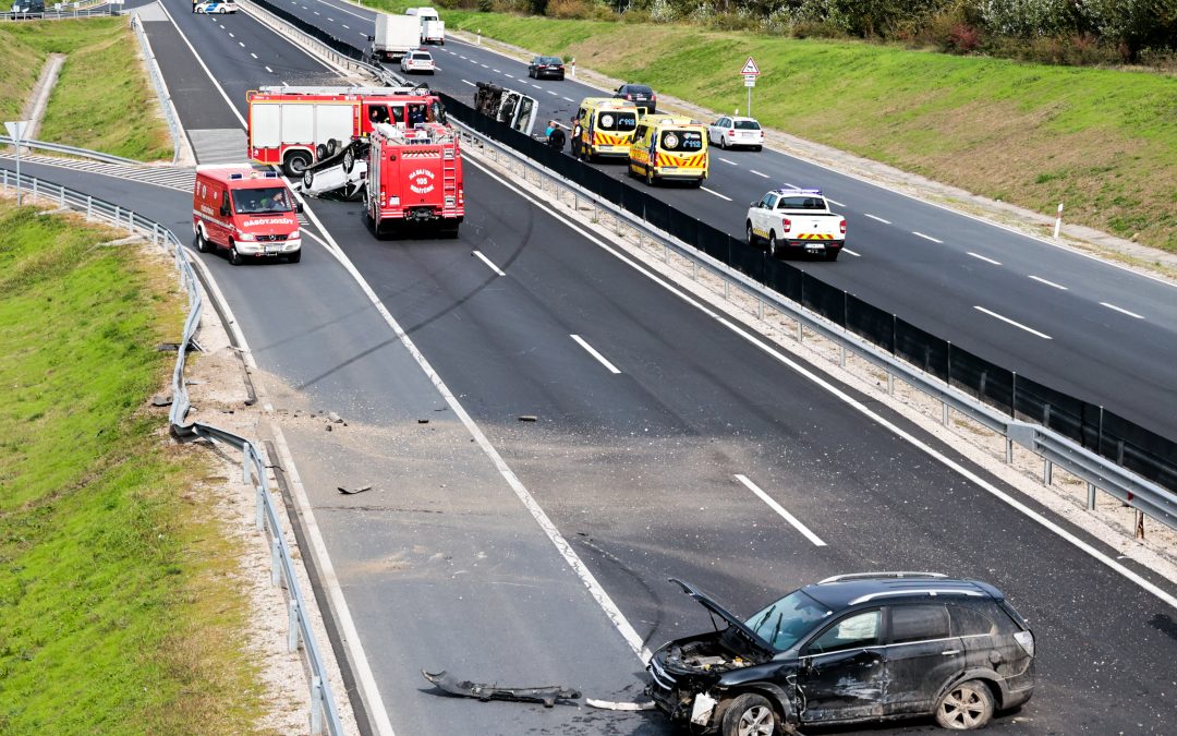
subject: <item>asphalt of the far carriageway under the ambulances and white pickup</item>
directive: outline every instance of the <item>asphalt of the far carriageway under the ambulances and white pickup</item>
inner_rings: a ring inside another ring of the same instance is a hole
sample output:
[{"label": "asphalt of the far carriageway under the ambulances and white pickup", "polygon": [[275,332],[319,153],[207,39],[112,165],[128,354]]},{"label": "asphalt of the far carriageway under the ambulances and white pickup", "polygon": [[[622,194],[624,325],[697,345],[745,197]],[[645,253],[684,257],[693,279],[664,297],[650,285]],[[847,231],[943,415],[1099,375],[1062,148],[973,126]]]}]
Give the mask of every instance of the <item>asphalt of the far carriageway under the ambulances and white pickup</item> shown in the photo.
[{"label": "asphalt of the far carriageway under the ambulances and white pickup", "polygon": [[[366,45],[372,11],[343,0],[281,2]],[[478,81],[530,93],[540,105],[537,130],[548,118],[568,120],[585,97],[611,95],[571,78],[528,79],[525,62],[452,38],[431,49],[438,73],[420,79],[468,101]],[[777,151],[713,147],[711,157],[704,190],[654,191],[743,237],[747,204],[769,188],[822,187],[846,216],[847,252],[838,264],[800,267],[998,365],[1177,437],[1177,287]],[[626,175],[623,164],[596,166]]]}]

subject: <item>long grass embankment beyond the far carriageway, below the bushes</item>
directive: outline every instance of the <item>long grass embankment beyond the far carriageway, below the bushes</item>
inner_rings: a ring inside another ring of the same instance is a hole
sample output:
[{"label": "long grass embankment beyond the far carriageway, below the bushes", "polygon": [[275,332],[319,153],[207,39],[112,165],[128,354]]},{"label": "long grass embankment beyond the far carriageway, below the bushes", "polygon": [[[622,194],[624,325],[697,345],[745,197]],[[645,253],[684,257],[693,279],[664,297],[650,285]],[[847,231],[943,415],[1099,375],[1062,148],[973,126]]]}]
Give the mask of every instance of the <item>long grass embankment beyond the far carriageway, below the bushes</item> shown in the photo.
[{"label": "long grass embankment beyond the far carriageway, below the bushes", "polygon": [[769,127],[1037,212],[1062,201],[1069,223],[1177,252],[1171,75],[694,26],[443,16],[724,112],[744,108],[737,72],[751,55],[763,72],[752,110]]}]

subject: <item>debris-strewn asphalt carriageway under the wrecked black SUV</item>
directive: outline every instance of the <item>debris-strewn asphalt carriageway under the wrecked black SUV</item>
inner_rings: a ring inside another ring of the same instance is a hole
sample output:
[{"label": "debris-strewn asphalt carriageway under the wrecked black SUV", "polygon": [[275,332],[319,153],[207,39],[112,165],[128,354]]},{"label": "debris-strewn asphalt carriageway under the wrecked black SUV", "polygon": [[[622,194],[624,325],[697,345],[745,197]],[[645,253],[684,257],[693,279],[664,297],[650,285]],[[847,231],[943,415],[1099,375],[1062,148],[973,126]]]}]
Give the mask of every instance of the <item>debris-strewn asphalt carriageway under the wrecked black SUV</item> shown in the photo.
[{"label": "debris-strewn asphalt carriageway under the wrecked black SUV", "polygon": [[[244,15],[168,8],[238,112],[275,68],[266,53],[285,54],[286,81],[324,74]],[[215,40],[230,29],[237,48]],[[191,94],[206,100],[200,114],[221,114],[211,81]],[[191,233],[184,193],[28,171]],[[1069,524],[1044,525],[1033,499],[470,159],[466,201],[458,240],[378,241],[358,204],[311,201],[321,243],[298,265],[199,256],[265,371],[359,631],[351,645],[395,731],[669,734],[657,714],[445,698],[418,670],[639,699],[633,649],[711,625],[665,578],[749,615],[792,586],[871,569],[985,579],[1031,621],[1039,688],[995,730],[1169,730],[1177,609],[1139,582],[1177,586]],[[347,426],[326,431],[326,411]],[[872,730],[912,729],[932,730]]]}]

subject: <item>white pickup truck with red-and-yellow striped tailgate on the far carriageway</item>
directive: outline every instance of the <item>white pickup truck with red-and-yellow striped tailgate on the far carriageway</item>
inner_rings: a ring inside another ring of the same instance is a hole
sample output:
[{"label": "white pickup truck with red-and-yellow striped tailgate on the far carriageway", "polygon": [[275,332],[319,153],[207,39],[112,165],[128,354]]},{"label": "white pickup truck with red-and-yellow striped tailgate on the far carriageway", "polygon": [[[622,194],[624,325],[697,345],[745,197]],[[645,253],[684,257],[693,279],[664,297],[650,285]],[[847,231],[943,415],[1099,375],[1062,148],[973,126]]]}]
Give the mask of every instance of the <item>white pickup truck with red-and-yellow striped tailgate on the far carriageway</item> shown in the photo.
[{"label": "white pickup truck with red-and-yellow striped tailgate on the far carriageway", "polygon": [[804,251],[838,260],[846,241],[846,218],[830,211],[822,190],[772,190],[753,201],[744,224],[749,245],[767,241],[769,254]]}]

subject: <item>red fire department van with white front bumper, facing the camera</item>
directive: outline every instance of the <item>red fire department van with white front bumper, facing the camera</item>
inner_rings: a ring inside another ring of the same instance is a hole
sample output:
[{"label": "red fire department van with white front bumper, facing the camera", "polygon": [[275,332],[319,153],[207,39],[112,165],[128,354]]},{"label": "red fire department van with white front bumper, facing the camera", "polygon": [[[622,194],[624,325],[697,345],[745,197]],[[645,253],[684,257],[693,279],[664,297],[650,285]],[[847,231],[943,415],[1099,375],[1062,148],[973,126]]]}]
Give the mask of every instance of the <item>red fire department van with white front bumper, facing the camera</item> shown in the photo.
[{"label": "red fire department van with white front bumper, facing the camera", "polygon": [[245,259],[302,258],[297,213],[302,205],[274,171],[248,164],[197,166],[192,231],[197,250],[228,251],[234,266]]}]

